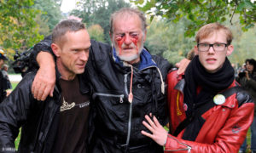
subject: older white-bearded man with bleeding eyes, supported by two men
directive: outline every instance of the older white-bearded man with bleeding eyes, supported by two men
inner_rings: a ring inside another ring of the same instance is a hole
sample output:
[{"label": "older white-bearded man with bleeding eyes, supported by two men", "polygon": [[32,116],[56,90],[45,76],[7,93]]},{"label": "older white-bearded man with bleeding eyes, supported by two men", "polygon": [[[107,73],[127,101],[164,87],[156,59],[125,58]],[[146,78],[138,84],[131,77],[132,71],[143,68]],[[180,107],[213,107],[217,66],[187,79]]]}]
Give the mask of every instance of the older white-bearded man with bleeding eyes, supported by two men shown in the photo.
[{"label": "older white-bearded man with bleeding eyes, supported by two men", "polygon": [[[146,130],[142,122],[149,112],[166,125],[165,82],[172,65],[143,48],[146,27],[143,13],[121,8],[110,20],[112,46],[91,41],[84,71],[93,92],[90,152],[163,152],[163,147],[140,132]],[[36,99],[51,93],[50,84],[55,82],[49,43],[50,40],[39,42],[32,54],[40,65],[32,87]]]}]

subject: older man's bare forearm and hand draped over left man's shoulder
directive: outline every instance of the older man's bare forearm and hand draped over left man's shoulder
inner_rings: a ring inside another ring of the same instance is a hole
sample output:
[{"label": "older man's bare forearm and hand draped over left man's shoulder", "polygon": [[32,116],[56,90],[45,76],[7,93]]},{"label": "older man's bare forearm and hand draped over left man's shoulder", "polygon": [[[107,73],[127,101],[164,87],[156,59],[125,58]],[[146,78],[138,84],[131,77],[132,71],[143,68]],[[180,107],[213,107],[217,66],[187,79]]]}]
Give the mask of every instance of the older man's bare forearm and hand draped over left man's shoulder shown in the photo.
[{"label": "older man's bare forearm and hand draped over left man's shoulder", "polygon": [[35,99],[44,100],[48,95],[53,96],[55,88],[55,60],[52,54],[40,52],[37,56],[40,68],[32,82],[32,94]]}]

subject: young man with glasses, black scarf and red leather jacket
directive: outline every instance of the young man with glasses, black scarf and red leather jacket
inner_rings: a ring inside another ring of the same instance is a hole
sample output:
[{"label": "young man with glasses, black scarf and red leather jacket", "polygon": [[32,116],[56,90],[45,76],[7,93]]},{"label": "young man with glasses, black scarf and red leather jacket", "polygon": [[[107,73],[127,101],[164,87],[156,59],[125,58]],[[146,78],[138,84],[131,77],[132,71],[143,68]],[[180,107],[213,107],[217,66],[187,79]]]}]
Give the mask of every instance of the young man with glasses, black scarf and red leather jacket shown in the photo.
[{"label": "young man with glasses, black scarf and red leather jacket", "polygon": [[202,26],[195,37],[195,58],[184,75],[167,77],[170,132],[156,117],[142,133],[166,152],[238,152],[253,122],[253,100],[237,85],[226,56],[233,52],[230,29],[218,23]]}]

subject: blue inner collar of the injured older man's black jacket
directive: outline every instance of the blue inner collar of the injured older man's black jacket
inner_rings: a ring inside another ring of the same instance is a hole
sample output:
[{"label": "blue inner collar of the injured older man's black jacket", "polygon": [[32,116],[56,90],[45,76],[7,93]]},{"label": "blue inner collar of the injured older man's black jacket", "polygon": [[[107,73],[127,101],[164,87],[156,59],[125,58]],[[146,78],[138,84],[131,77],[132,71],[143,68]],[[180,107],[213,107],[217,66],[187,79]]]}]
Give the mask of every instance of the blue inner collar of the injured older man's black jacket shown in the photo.
[{"label": "blue inner collar of the injured older man's black jacket", "polygon": [[[112,49],[113,52],[113,60],[115,63],[117,63],[120,66],[125,66],[124,65],[124,61],[122,61],[121,59],[119,59],[119,57],[116,54],[116,50],[115,48]],[[154,60],[152,59],[151,54],[148,53],[148,51],[143,48],[142,53],[140,54],[140,65],[139,65],[139,71],[148,68],[150,66],[156,66],[156,63],[154,62]]]}]

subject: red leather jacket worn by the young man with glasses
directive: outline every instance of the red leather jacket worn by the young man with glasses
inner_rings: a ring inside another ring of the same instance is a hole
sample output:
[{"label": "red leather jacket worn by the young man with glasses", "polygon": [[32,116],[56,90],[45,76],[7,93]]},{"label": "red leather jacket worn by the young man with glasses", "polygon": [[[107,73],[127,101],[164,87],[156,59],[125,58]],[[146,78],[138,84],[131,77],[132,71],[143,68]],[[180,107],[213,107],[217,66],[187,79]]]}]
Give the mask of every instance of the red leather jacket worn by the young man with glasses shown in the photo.
[{"label": "red leather jacket worn by the young man with glasses", "polygon": [[[170,108],[170,132],[174,133],[178,124],[183,122],[186,114],[183,107],[184,79],[177,76],[177,71],[168,74],[168,107]],[[230,85],[236,86],[235,81]],[[247,129],[253,122],[253,100],[247,95],[231,95],[222,105],[215,105],[202,117],[206,120],[195,141],[183,140],[184,130],[177,137],[168,134],[165,152],[238,152]],[[242,101],[241,101],[242,100]]]}]

